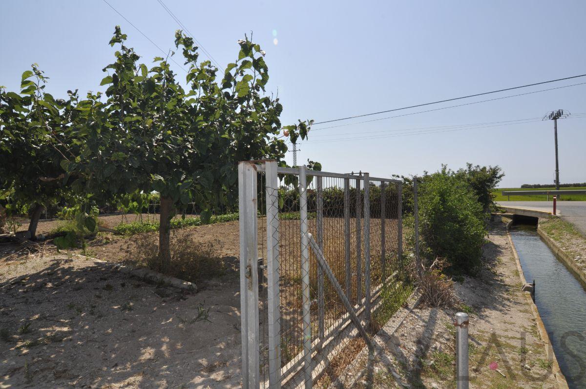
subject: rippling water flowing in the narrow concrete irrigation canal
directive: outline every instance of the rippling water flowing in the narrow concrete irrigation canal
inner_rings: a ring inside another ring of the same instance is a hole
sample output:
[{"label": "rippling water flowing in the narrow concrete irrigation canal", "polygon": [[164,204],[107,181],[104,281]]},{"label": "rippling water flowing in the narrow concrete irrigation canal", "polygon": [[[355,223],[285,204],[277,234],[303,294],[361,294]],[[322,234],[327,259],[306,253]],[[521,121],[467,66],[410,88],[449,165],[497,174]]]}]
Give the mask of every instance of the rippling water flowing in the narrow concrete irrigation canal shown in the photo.
[{"label": "rippling water flowing in the narrow concrete irrigation canal", "polygon": [[513,226],[513,243],[571,389],[586,388],[586,289],[541,240],[536,226]]}]

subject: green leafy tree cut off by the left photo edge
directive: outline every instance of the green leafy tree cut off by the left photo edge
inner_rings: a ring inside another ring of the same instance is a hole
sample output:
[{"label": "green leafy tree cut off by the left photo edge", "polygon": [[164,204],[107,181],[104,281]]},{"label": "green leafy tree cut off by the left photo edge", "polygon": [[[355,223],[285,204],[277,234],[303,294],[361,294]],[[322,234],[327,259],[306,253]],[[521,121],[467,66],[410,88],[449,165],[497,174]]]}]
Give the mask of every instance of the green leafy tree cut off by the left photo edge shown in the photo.
[{"label": "green leafy tree cut off by the left photo edge", "polygon": [[32,238],[43,209],[69,195],[59,162],[77,153],[67,135],[74,94],[53,98],[45,92],[48,78],[33,64],[22,74],[20,93],[0,87],[0,195],[10,197],[9,212],[30,214]]}]

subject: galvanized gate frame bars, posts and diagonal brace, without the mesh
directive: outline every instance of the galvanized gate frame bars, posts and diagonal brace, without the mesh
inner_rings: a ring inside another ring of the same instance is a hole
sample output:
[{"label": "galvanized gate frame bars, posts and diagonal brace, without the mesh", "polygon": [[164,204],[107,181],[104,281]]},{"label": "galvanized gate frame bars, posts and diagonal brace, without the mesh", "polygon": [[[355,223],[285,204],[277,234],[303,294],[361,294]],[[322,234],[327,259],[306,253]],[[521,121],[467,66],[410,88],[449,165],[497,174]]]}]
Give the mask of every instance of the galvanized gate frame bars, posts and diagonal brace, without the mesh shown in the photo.
[{"label": "galvanized gate frame bars, posts and diagonal brace, without the mesh", "polygon": [[[362,176],[347,175],[342,173],[319,172],[316,170],[308,170],[306,166],[299,166],[299,168],[280,168],[277,161],[262,160],[262,161],[243,161],[239,163],[238,177],[239,177],[239,212],[240,212],[240,303],[241,303],[241,339],[242,339],[242,385],[244,388],[257,389],[260,388],[260,337],[259,337],[259,309],[258,309],[258,224],[257,224],[257,173],[265,172],[265,189],[266,189],[266,221],[267,221],[267,289],[268,289],[268,356],[269,356],[269,377],[268,386],[271,389],[281,388],[281,340],[280,340],[280,261],[279,261],[279,219],[278,219],[278,174],[293,174],[299,176],[299,206],[300,206],[300,234],[301,234],[301,276],[303,294],[302,294],[302,310],[303,310],[303,366],[304,366],[304,383],[305,388],[312,387],[312,351],[315,345],[312,345],[311,340],[311,300],[309,296],[309,250],[314,251],[316,258],[318,258],[318,315],[319,315],[319,339],[323,339],[325,329],[323,327],[324,315],[324,301],[323,301],[323,276],[326,275],[338,292],[340,299],[342,299],[346,309],[350,315],[350,319],[355,323],[359,332],[367,339],[364,327],[357,318],[355,308],[350,305],[347,295],[350,295],[350,206],[349,206],[349,183],[350,179],[356,180],[356,187],[364,190],[364,202],[360,204],[361,196],[360,190],[357,190],[357,261],[362,258],[362,253],[359,252],[361,247],[362,236],[364,234],[364,316],[365,322],[370,320],[371,312],[371,296],[370,296],[370,203],[369,203],[369,183],[370,180],[377,180],[384,186],[389,182],[397,183],[398,185],[398,199],[402,196],[401,181],[395,179],[384,178],[370,178],[368,173],[363,173]],[[335,279],[325,257],[323,257],[323,236],[322,236],[322,196],[317,196],[317,215],[316,223],[318,225],[316,231],[316,239],[309,234],[308,231],[308,214],[307,214],[307,175],[314,176],[316,179],[316,191],[321,193],[322,178],[343,178],[345,182],[344,197],[345,197],[345,267],[346,279],[345,289]],[[361,185],[362,184],[362,185]],[[383,190],[384,193],[384,190]],[[384,197],[383,197],[384,198]],[[363,224],[360,220],[360,213],[362,206],[364,208]],[[382,208],[384,211],[384,206]],[[398,215],[401,215],[401,201],[398,201]],[[381,216],[384,218],[384,216]],[[386,231],[384,231],[384,219],[381,223],[381,241],[386,239]],[[398,223],[398,261],[402,262],[402,226]],[[384,247],[384,244],[383,244]],[[384,249],[383,249],[384,258]],[[361,282],[362,274],[360,271],[362,264],[357,264],[357,280]],[[383,277],[386,279],[384,273],[384,259],[383,259]],[[360,285],[360,284],[359,284]],[[345,296],[345,294],[346,296]],[[357,288],[359,301],[362,301],[361,295],[362,287]],[[366,340],[367,344],[370,340]]]}]

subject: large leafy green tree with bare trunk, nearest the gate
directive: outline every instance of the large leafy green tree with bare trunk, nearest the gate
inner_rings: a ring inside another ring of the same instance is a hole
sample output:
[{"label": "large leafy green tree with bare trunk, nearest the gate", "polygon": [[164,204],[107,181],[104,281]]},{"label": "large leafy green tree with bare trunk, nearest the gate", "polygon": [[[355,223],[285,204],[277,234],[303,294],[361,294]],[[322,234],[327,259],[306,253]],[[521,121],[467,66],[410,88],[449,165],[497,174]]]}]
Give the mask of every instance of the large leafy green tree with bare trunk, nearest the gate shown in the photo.
[{"label": "large leafy green tree with bare trunk, nearest the gate", "polygon": [[[223,77],[209,61],[198,62],[190,37],[176,33],[175,45],[188,66],[184,89],[169,63],[156,57],[150,69],[137,64],[138,54],[124,45],[127,36],[115,28],[110,45],[119,45],[108,76],[105,101],[88,94],[76,109],[72,126],[83,145],[79,158],[64,160],[78,193],[96,199],[122,196],[138,203],[146,193],[160,193],[159,267],[171,261],[170,221],[195,203],[202,219],[234,203],[237,162],[282,160],[287,151],[280,133],[282,105],[265,95],[268,67],[264,52],[248,39],[228,64]],[[173,55],[173,53],[169,53]],[[290,136],[305,138],[311,122],[289,126]]]}]

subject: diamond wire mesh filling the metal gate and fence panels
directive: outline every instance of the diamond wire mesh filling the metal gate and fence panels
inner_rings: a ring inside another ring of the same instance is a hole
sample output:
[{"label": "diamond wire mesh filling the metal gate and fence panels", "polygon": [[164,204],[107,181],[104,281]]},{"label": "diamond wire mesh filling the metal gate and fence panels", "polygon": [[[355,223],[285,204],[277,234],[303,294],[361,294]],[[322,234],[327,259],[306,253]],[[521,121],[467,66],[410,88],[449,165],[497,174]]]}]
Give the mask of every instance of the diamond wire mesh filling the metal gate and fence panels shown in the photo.
[{"label": "diamond wire mesh filling the metal gate and fence panels", "polygon": [[[305,209],[302,204],[304,187],[299,173],[281,173],[274,188],[267,185],[267,180],[271,178],[267,178],[264,169],[259,169],[261,387],[268,387],[271,374],[280,377],[285,387],[295,387],[304,381],[308,387],[325,371],[328,361],[358,336],[342,301],[344,296],[363,326],[370,325],[367,308],[372,306],[370,313],[376,311],[381,290],[401,268],[401,245],[405,234],[409,233],[408,228],[402,228],[401,220],[408,207],[403,207],[401,184],[391,180],[365,180],[363,176],[352,175],[315,176],[309,170]],[[267,204],[269,209],[271,206],[277,208],[270,212],[269,220]],[[304,240],[304,224],[307,233],[315,238],[343,296],[324,276],[308,240]],[[267,228],[271,231],[268,237]],[[305,264],[306,254],[309,261]],[[272,263],[272,270],[267,261],[271,255],[277,258]],[[271,289],[268,280],[272,274],[278,275],[275,278],[278,284],[272,285]],[[370,288],[366,289],[367,286]],[[370,296],[368,301],[366,296]],[[271,308],[273,317],[269,312]],[[271,326],[274,326],[272,330]],[[272,342],[277,350],[272,350],[271,333],[274,333],[275,326],[278,330]],[[279,368],[270,373],[275,363]]]}]

